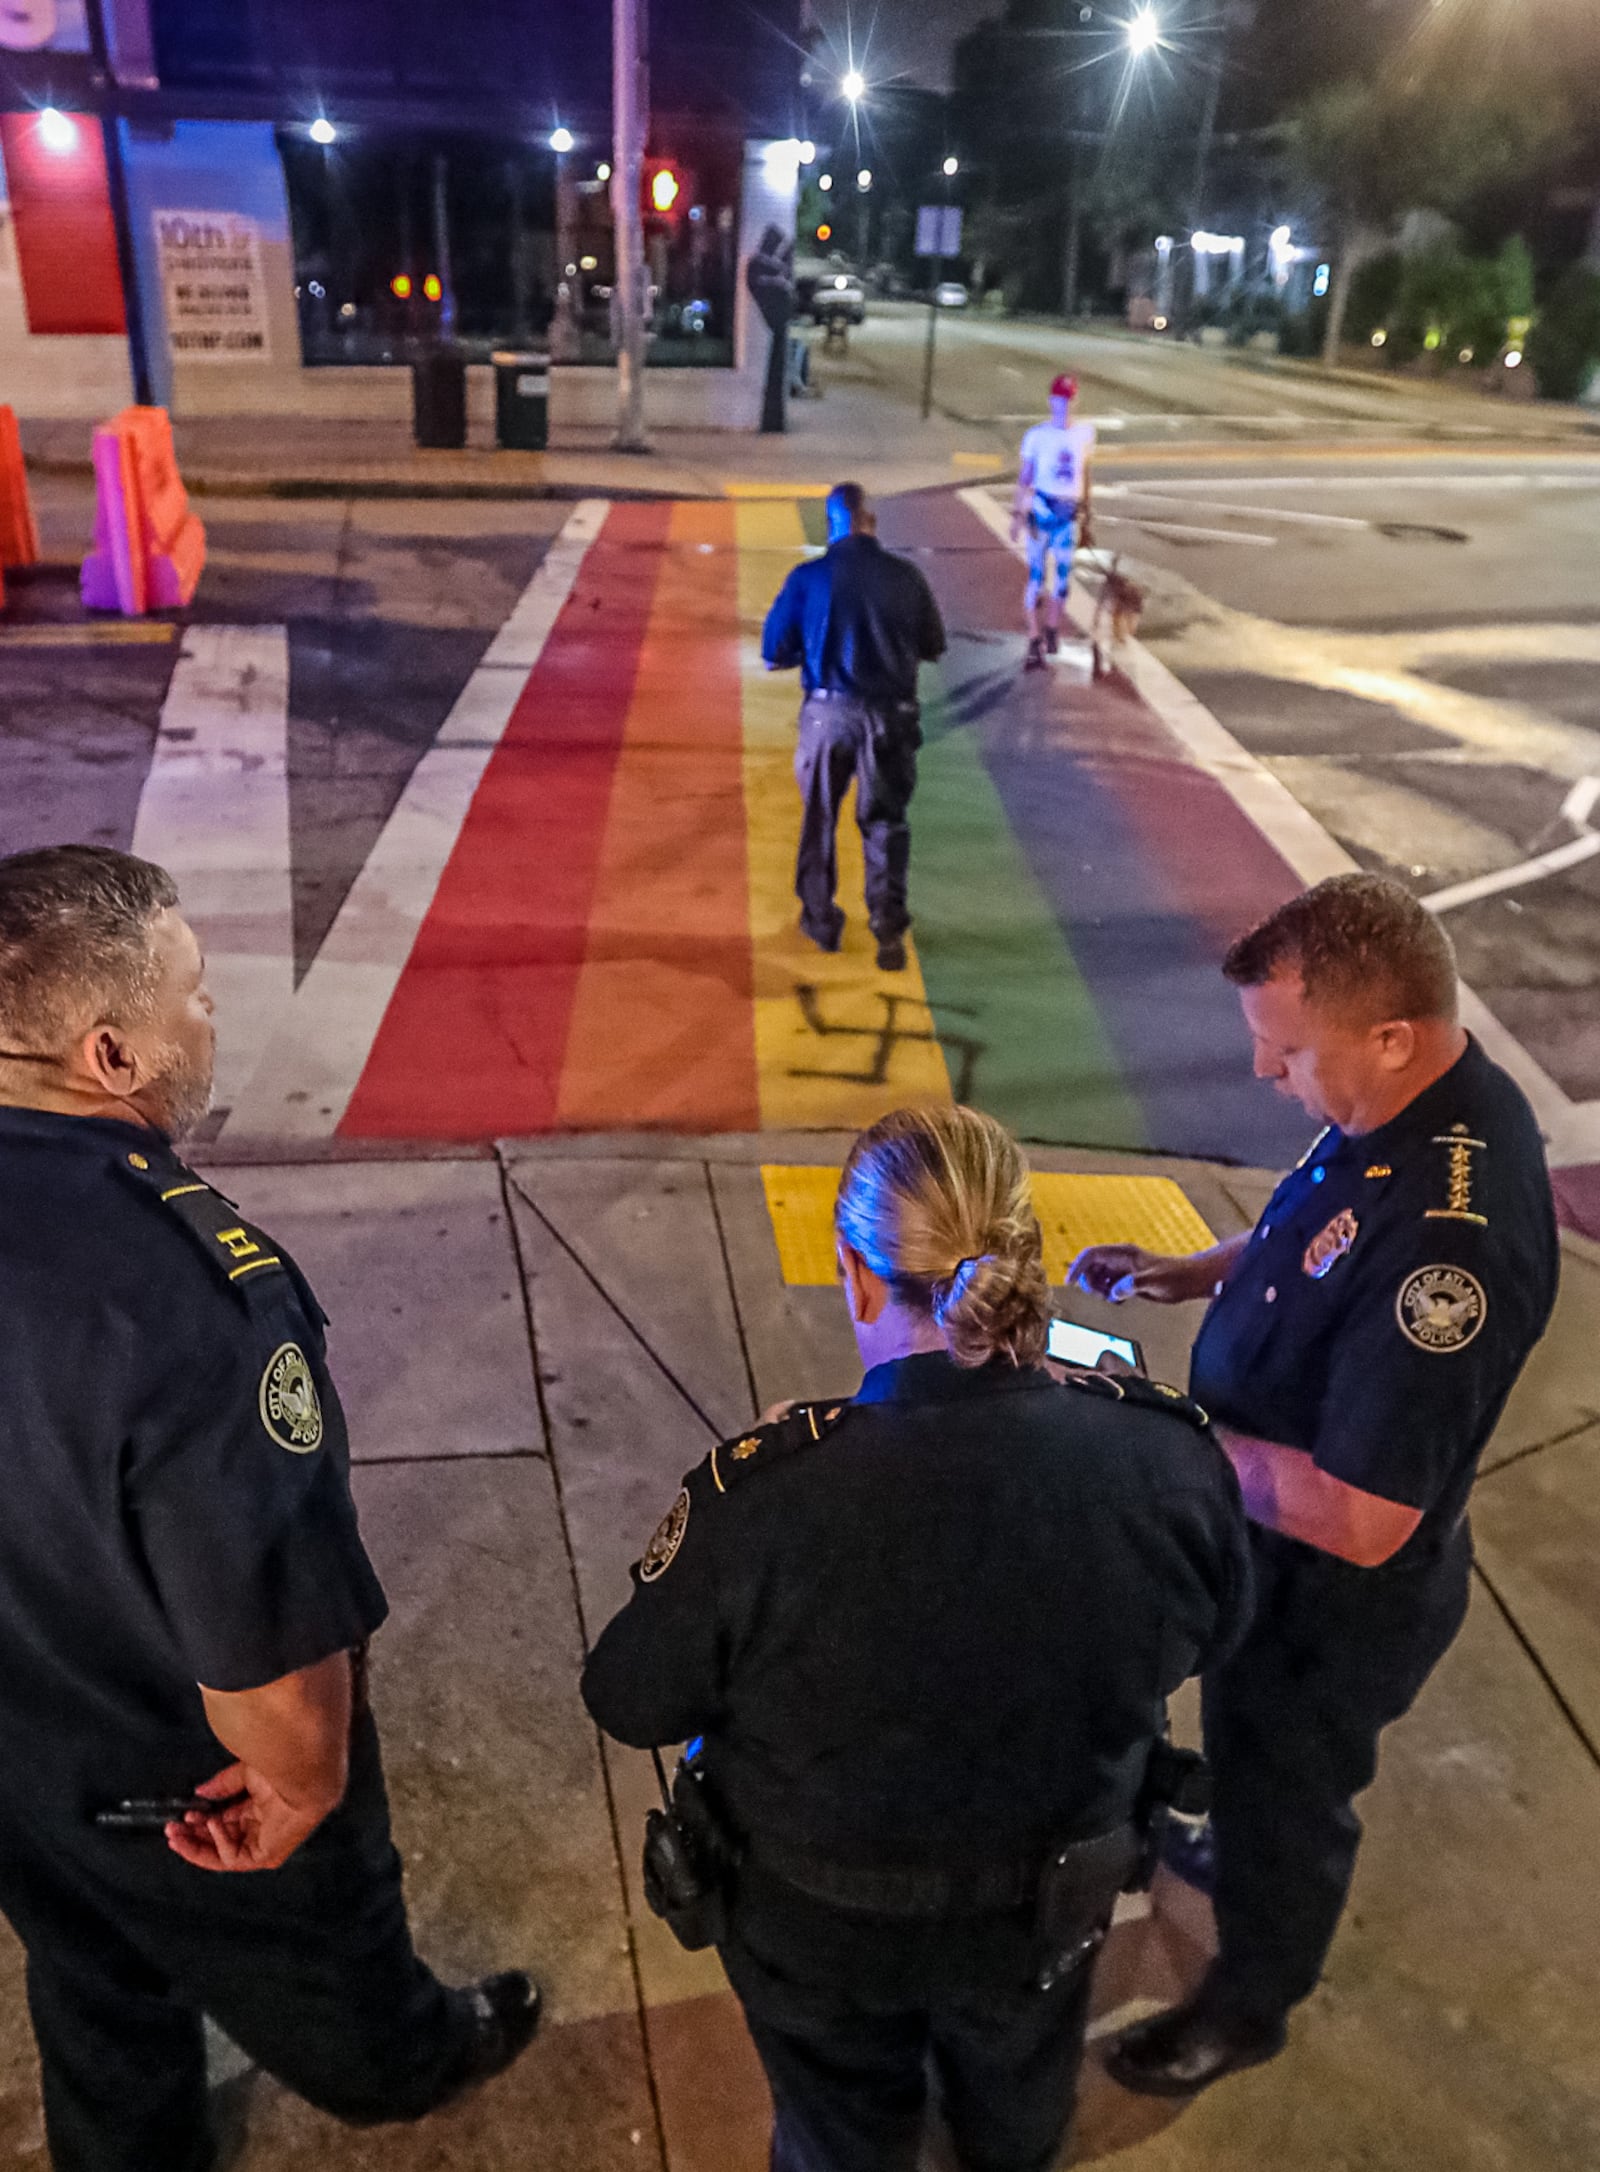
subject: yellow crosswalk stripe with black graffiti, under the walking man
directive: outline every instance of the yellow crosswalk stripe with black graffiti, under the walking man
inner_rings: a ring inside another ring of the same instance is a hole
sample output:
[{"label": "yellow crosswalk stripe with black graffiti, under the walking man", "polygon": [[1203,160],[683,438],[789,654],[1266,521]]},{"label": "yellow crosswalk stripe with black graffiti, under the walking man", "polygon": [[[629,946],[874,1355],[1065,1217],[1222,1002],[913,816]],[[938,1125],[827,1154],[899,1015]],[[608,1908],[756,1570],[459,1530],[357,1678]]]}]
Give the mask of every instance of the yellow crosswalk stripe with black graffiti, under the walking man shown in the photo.
[{"label": "yellow crosswalk stripe with black graffiti, under the walking man", "polygon": [[[914,945],[907,943],[903,973],[877,971],[875,943],[862,906],[862,841],[851,810],[838,825],[838,895],[849,914],[845,947],[827,956],[799,932],[795,901],[799,689],[792,673],[769,673],[762,667],[760,639],[766,606],[788,569],[805,556],[805,530],[792,500],[740,504],[736,523],[745,825],[762,1125],[858,1132],[907,1101],[949,1101],[951,1075],[934,1032],[934,1012],[927,1008]],[[912,836],[916,836],[914,804]]]}]

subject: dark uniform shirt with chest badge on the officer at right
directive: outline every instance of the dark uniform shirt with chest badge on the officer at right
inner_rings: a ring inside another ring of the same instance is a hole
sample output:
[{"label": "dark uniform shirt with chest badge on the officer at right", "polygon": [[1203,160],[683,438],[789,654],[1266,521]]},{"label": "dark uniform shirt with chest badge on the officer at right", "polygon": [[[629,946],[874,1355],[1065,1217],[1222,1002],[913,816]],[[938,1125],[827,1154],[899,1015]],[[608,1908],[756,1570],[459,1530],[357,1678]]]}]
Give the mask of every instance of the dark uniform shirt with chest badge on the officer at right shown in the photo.
[{"label": "dark uniform shirt with chest badge on the officer at right", "polygon": [[1554,1305],[1539,1129],[1476,1040],[1398,1116],[1318,1138],[1268,1201],[1194,1344],[1211,1416],[1422,1510],[1435,1555]]}]

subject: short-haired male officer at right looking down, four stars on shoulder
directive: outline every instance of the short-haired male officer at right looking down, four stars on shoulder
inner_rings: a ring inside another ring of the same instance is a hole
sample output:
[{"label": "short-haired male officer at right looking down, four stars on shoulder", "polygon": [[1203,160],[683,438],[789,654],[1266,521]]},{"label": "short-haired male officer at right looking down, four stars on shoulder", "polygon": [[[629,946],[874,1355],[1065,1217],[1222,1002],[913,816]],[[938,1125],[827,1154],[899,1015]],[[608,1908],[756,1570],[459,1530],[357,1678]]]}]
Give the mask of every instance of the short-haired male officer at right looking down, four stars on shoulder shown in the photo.
[{"label": "short-haired male officer at right looking down, four stars on shoulder", "polygon": [[1185,2094],[1270,2059],[1355,1870],[1355,1796],[1468,1607],[1468,1494],[1557,1290],[1539,1129],[1463,1032],[1450,940],[1405,888],[1337,875],[1227,956],[1255,1073],[1326,1129],[1248,1236],[1131,1245],[1072,1277],[1214,1295],[1190,1386],[1250,1514],[1257,1616],[1205,1681],[1220,1950],[1112,2072]]}]

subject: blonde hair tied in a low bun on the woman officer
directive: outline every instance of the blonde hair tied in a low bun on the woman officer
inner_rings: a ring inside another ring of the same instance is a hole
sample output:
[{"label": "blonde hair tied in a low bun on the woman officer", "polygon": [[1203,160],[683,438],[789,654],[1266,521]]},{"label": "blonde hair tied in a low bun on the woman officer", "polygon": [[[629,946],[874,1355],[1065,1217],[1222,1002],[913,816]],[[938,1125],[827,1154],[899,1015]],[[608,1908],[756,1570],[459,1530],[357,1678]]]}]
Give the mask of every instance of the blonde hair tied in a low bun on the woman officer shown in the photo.
[{"label": "blonde hair tied in a low bun on the woman officer", "polygon": [[862,1132],[834,1223],[964,1366],[1040,1364],[1051,1327],[1027,1160],[973,1108],[901,1108]]}]

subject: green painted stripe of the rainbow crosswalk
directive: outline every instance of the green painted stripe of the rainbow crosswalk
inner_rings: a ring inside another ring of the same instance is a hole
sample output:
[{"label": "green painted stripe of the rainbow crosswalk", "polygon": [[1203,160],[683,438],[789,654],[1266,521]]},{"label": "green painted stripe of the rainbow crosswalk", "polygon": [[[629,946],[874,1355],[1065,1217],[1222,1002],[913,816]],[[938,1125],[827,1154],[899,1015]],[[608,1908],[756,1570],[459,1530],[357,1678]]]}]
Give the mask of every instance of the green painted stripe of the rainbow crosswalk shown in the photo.
[{"label": "green painted stripe of the rainbow crosswalk", "polygon": [[923,730],[912,912],[951,1086],[1023,1138],[1144,1147],[1142,1110],[1005,821],[979,728],[955,721],[942,680]]}]

